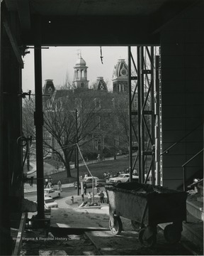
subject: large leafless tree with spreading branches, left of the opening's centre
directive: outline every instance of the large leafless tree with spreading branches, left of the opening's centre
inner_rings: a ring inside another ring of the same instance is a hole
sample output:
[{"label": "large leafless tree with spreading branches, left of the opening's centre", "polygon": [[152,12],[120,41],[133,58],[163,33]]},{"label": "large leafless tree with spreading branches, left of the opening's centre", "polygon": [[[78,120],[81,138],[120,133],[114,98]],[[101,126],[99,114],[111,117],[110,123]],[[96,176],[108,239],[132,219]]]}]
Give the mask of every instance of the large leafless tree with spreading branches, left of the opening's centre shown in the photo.
[{"label": "large leafless tree with spreading branches, left of the opening's centre", "polygon": [[86,90],[67,90],[66,95],[57,97],[45,109],[44,128],[52,140],[51,143],[45,140],[44,145],[64,164],[67,177],[71,176],[69,161],[77,140],[83,146],[96,128],[93,125],[95,112],[94,99]]}]

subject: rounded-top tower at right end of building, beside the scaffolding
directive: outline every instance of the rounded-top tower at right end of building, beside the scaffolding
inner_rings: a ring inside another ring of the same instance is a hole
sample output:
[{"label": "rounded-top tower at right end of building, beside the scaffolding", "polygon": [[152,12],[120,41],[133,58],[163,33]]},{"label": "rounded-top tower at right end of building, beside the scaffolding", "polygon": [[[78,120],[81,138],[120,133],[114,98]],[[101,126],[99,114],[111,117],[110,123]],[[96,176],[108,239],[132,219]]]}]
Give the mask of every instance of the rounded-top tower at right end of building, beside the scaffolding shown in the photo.
[{"label": "rounded-top tower at right end of building, beside the scaffolding", "polygon": [[128,92],[128,65],[119,59],[113,69],[113,92]]}]

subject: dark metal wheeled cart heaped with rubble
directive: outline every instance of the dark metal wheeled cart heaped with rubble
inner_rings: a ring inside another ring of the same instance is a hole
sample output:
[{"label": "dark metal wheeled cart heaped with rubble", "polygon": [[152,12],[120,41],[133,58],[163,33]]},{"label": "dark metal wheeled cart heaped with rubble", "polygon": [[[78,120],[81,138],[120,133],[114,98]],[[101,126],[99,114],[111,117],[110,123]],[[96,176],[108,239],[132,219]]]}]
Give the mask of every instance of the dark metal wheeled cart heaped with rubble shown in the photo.
[{"label": "dark metal wheeled cart heaped with rubble", "polygon": [[120,216],[131,220],[145,247],[157,242],[157,225],[171,223],[164,228],[164,238],[175,243],[181,240],[182,222],[186,220],[186,192],[180,192],[137,182],[105,186],[109,203],[109,228],[114,235],[123,230]]}]

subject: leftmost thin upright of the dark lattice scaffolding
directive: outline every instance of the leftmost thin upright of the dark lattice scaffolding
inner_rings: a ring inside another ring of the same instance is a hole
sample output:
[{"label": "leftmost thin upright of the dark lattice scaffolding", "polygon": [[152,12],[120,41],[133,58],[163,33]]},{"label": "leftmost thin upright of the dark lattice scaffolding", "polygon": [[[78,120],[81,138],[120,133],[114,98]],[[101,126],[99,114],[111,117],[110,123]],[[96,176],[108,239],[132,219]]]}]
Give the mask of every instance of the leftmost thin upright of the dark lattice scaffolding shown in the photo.
[{"label": "leftmost thin upright of the dark lattice scaffolding", "polygon": [[131,60],[130,46],[128,46],[128,92],[129,92],[129,166],[130,166],[130,181],[132,181],[132,90],[131,90]]}]

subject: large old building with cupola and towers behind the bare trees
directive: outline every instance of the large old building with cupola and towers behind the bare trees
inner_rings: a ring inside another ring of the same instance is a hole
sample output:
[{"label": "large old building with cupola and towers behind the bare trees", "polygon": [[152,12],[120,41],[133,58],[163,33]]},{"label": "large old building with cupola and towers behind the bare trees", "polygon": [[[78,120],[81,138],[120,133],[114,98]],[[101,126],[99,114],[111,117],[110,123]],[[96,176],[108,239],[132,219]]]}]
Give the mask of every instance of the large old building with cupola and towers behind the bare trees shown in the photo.
[{"label": "large old building with cupola and towers behind the bare trees", "polygon": [[83,96],[79,96],[83,95],[81,92],[86,93],[90,102],[94,102],[94,118],[89,124],[91,132],[86,137],[89,143],[83,145],[85,155],[87,152],[94,152],[113,156],[118,151],[128,151],[128,130],[125,130],[128,123],[124,123],[128,122],[128,65],[124,59],[119,59],[114,66],[112,82],[112,90],[108,90],[103,77],[98,77],[90,88],[88,66],[81,54],[74,65],[74,79],[70,89],[57,90],[52,80],[45,80],[43,94],[47,97],[43,98],[47,107],[53,102],[62,101],[64,97],[70,99],[72,94],[72,97],[76,97],[73,109],[79,109],[79,105],[83,105]]}]

